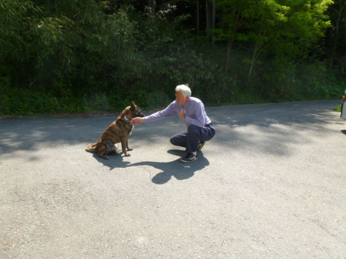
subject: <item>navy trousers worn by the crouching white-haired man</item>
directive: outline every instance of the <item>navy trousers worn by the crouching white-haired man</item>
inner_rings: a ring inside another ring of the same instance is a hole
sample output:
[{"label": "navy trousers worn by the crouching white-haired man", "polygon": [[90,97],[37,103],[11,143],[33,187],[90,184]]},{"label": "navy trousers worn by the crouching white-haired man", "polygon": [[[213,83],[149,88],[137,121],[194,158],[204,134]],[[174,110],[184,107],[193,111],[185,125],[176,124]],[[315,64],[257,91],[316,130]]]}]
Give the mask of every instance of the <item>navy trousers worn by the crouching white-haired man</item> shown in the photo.
[{"label": "navy trousers worn by the crouching white-haired man", "polygon": [[187,130],[183,130],[171,137],[170,141],[174,146],[186,148],[188,153],[195,152],[199,141],[211,140],[215,135],[213,124],[204,127],[189,125]]}]

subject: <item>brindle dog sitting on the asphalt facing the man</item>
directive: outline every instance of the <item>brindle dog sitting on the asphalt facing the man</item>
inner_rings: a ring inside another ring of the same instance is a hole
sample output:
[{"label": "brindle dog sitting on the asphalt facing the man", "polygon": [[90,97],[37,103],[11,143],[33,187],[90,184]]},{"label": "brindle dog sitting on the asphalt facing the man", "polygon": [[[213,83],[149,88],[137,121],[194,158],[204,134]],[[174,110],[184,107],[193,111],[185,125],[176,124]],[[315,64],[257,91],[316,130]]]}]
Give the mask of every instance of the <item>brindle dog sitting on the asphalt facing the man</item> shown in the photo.
[{"label": "brindle dog sitting on the asphalt facing the man", "polygon": [[99,157],[109,159],[107,154],[118,154],[115,150],[118,148],[116,144],[120,142],[123,153],[126,156],[130,156],[127,151],[132,150],[132,148],[129,148],[128,138],[132,133],[133,124],[131,119],[134,117],[144,117],[144,114],[140,108],[132,102],[131,105],[125,108],[122,114],[108,126],[98,142],[87,145],[86,151],[97,152]]}]

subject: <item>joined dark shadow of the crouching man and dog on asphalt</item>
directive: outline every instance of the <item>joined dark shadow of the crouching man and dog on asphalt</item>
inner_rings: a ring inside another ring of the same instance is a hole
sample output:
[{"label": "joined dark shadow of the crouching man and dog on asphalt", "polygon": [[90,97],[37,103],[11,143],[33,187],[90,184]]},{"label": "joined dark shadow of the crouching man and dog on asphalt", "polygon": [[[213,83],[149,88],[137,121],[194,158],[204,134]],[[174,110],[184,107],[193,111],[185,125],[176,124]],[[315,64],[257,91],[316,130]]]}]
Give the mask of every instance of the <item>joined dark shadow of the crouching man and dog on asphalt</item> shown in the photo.
[{"label": "joined dark shadow of the crouching man and dog on asphalt", "polygon": [[[185,151],[178,149],[171,149],[167,152],[179,156],[179,158],[186,154]],[[185,180],[191,178],[192,176],[194,176],[196,171],[199,171],[209,165],[209,161],[207,158],[204,157],[202,151],[198,152],[197,156],[198,159],[191,163],[182,163],[179,161],[179,159],[175,159],[170,162],[141,161],[131,164],[128,161],[123,161],[123,157],[120,154],[114,157],[116,159],[112,159],[111,157],[111,159],[109,160],[104,160],[102,158],[99,158],[97,154],[94,154],[94,157],[99,162],[102,162],[105,166],[108,166],[110,170],[114,168],[128,168],[132,166],[144,165],[155,167],[162,171],[156,174],[151,179],[151,181],[157,185],[166,184],[168,181],[172,179],[172,176],[177,180]]]}]

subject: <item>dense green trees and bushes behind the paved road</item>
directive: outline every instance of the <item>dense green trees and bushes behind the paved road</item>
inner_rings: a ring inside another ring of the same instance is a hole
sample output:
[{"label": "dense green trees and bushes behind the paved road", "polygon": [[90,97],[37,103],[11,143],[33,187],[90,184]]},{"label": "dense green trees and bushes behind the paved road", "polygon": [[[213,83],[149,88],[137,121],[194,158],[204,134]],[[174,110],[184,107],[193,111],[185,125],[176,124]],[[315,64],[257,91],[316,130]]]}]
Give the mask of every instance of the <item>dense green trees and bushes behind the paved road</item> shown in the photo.
[{"label": "dense green trees and bushes behind the paved road", "polygon": [[346,0],[0,0],[0,114],[339,98]]}]

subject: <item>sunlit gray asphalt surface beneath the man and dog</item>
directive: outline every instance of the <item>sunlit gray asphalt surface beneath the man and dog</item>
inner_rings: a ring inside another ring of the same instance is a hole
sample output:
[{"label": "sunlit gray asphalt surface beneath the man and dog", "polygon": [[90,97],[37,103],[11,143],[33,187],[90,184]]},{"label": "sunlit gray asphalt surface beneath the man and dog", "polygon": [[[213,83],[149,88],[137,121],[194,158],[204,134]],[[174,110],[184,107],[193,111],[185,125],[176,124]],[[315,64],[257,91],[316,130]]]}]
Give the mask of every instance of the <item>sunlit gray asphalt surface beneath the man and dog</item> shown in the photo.
[{"label": "sunlit gray asphalt surface beneath the man and dog", "polygon": [[338,104],[209,107],[216,136],[189,164],[174,116],[109,160],[84,148],[113,116],[2,118],[0,258],[344,259]]}]

